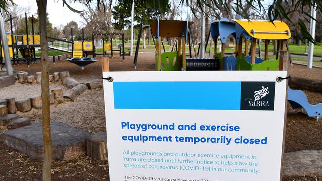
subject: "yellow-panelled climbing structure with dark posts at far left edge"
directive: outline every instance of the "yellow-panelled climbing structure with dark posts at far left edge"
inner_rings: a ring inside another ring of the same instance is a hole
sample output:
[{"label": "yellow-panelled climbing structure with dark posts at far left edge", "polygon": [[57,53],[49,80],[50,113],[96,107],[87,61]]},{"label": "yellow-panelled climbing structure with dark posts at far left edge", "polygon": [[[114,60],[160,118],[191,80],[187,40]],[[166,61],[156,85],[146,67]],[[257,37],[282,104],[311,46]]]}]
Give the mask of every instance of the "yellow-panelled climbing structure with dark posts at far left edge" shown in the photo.
[{"label": "yellow-panelled climbing structure with dark posts at far left edge", "polygon": [[[25,13],[25,24],[26,24],[26,35],[17,35],[13,33],[12,26],[12,16],[10,15],[10,29],[11,33],[7,34],[8,38],[8,46],[9,46],[9,54],[10,59],[13,61],[13,64],[19,64],[19,60],[24,60],[27,62],[28,67],[30,66],[30,62],[36,61],[36,53],[35,48],[40,47],[40,37],[39,35],[35,35],[34,32],[34,23],[38,22],[38,19],[33,16],[27,18],[27,13]],[[32,34],[30,35],[28,32],[28,21],[31,22],[32,25]],[[0,63],[1,69],[4,66],[3,58],[3,48],[2,42],[0,43],[1,55],[0,55]],[[19,57],[19,52],[22,57]]]}]

